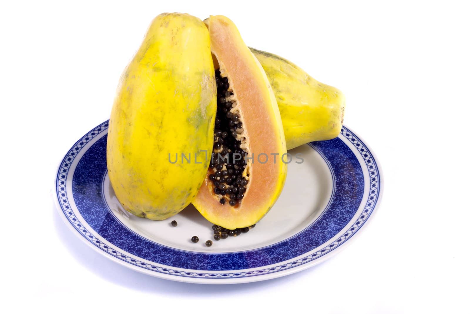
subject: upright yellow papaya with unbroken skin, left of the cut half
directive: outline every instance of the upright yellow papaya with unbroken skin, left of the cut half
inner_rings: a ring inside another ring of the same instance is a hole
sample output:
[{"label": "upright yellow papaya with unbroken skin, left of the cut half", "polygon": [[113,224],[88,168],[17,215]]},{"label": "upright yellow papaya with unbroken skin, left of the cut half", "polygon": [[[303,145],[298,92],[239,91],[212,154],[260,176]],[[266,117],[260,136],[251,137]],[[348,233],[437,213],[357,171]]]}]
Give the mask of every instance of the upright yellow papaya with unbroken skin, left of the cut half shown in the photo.
[{"label": "upright yellow papaya with unbroken skin, left of the cut half", "polygon": [[216,97],[207,27],[187,14],[157,16],[121,76],[110,118],[108,173],[126,210],[163,220],[196,196],[209,167]]}]

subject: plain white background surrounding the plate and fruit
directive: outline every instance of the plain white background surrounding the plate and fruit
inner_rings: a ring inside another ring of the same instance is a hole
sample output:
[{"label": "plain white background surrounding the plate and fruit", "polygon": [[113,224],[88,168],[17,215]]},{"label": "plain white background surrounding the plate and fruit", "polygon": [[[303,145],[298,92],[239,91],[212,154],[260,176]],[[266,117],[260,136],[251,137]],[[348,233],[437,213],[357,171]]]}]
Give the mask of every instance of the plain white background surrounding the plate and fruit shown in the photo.
[{"label": "plain white background surrounding the plate and fruit", "polygon": [[[185,2],[1,5],[2,310],[469,313],[466,1]],[[345,124],[374,150],[385,188],[340,254],[266,282],[177,283],[112,263],[60,220],[55,167],[109,117],[149,22],[172,11],[226,15],[249,46],[345,93]]]}]

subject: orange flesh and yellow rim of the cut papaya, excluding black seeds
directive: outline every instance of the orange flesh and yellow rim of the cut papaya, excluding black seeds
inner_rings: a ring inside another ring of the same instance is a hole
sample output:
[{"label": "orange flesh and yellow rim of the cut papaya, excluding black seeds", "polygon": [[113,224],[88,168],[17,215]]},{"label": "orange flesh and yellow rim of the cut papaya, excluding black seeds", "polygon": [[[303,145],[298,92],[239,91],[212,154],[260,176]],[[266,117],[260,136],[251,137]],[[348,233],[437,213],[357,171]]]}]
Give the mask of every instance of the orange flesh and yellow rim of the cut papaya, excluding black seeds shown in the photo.
[{"label": "orange flesh and yellow rim of the cut papaya, excluding black seeds", "polygon": [[[227,77],[234,93],[234,107],[243,121],[246,146],[241,148],[256,159],[266,154],[266,162],[247,161],[248,185],[235,207],[221,204],[208,177],[193,205],[211,223],[227,229],[257,223],[273,207],[282,192],[287,165],[280,162],[286,153],[281,115],[266,73],[245,45],[235,24],[225,16],[204,20],[211,36],[211,49],[220,74]],[[273,154],[277,154],[277,159]],[[263,158],[265,160],[265,158]],[[209,174],[209,172],[208,172]]]}]

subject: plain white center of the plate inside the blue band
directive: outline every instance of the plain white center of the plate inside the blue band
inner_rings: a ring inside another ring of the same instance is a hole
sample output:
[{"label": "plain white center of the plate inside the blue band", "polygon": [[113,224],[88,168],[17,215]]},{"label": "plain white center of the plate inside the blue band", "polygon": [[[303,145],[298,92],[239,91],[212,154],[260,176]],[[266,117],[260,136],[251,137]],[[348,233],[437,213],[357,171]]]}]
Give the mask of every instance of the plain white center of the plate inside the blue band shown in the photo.
[{"label": "plain white center of the plate inside the blue band", "polygon": [[[149,241],[179,250],[195,252],[234,252],[254,250],[286,240],[305,229],[321,216],[333,193],[333,177],[327,162],[308,145],[290,150],[301,153],[304,162],[288,165],[282,194],[274,207],[248,233],[224,240],[213,239],[212,224],[189,205],[179,214],[163,221],[140,218],[125,211],[112,190],[109,177],[103,183],[103,196],[114,216],[128,229]],[[295,196],[294,196],[295,195]],[[227,206],[229,206],[227,204]],[[177,227],[171,221],[178,222]],[[191,242],[197,235],[198,243]],[[212,240],[211,247],[204,243]]]}]

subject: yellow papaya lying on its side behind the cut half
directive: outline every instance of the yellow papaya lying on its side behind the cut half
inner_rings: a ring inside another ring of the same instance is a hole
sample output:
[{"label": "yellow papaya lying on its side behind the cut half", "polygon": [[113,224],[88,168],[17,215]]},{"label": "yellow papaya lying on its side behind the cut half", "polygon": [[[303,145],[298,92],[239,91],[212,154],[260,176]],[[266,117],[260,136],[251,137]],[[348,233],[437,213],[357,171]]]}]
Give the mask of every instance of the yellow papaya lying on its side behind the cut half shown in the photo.
[{"label": "yellow papaya lying on its side behind the cut half", "polygon": [[345,112],[343,93],[314,80],[280,56],[250,49],[263,66],[276,96],[287,149],[337,137]]}]

